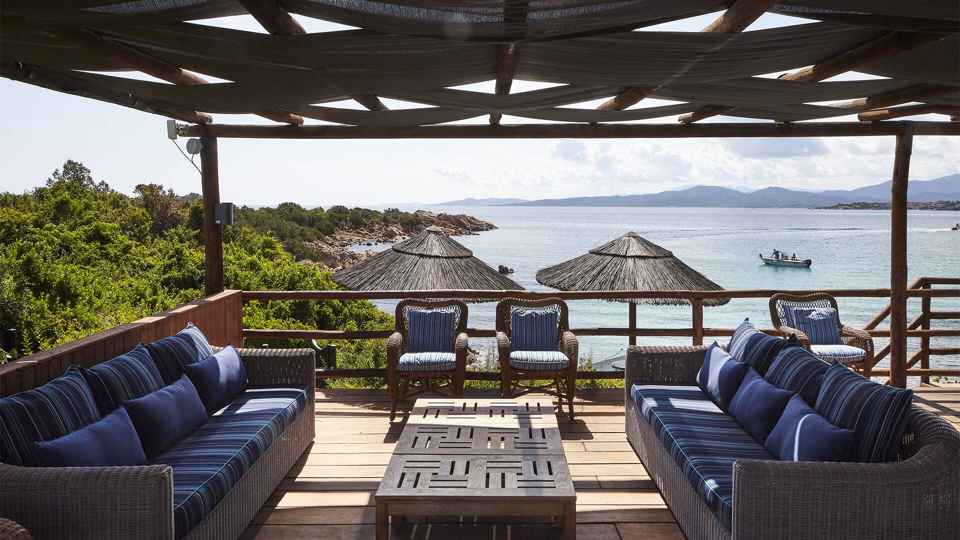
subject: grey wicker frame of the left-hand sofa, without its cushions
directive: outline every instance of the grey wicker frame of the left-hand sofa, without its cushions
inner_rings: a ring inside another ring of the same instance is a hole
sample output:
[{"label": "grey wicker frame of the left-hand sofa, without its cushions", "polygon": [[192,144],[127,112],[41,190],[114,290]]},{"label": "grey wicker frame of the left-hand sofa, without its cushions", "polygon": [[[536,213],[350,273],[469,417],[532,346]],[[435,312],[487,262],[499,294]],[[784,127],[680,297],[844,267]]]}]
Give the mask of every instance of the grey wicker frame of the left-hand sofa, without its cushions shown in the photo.
[{"label": "grey wicker frame of the left-hand sofa, without its cushions", "polygon": [[[314,438],[314,352],[239,349],[238,353],[249,388],[302,387],[305,404],[226,496],[182,536],[185,539],[232,540],[240,536]],[[170,465],[44,468],[0,464],[0,486],[0,516],[20,524],[37,540],[178,537],[177,481]]]}]

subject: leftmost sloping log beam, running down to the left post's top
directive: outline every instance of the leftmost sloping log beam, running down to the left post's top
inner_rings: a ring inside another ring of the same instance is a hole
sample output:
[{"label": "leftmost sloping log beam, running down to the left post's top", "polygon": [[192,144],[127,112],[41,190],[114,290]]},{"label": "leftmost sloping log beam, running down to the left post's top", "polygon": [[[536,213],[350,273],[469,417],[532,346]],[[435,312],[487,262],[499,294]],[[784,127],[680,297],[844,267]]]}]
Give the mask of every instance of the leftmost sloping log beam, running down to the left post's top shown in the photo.
[{"label": "leftmost sloping log beam, running down to the left post's top", "polygon": [[0,75],[13,81],[41,86],[73,95],[93,97],[131,109],[162,114],[183,122],[190,122],[191,124],[206,124],[213,121],[209,114],[204,114],[203,112],[189,110],[158,99],[145,98],[118,92],[103,86],[96,86],[86,81],[57,73],[56,71],[50,71],[49,69],[27,63],[20,63],[18,61],[0,61]]}]

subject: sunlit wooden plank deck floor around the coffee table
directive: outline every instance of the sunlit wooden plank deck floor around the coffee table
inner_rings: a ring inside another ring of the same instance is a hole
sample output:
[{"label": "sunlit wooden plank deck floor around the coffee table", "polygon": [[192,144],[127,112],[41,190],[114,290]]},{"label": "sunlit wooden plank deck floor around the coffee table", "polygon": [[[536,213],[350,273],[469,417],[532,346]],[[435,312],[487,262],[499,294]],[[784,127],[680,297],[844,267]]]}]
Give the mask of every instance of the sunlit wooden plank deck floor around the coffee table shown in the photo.
[{"label": "sunlit wooden plank deck floor around the coffee table", "polygon": [[[558,416],[577,489],[577,536],[588,540],[684,538],[657,486],[626,442],[623,391],[585,391],[577,418]],[[475,392],[473,397],[496,397]],[[960,425],[960,388],[918,389],[915,403]],[[407,404],[409,405],[412,404]],[[317,438],[244,533],[244,540],[368,540],[373,493],[403,428],[391,424],[380,390],[319,390]],[[521,523],[475,518],[411,520],[391,530],[405,540],[561,538],[549,518]]]}]

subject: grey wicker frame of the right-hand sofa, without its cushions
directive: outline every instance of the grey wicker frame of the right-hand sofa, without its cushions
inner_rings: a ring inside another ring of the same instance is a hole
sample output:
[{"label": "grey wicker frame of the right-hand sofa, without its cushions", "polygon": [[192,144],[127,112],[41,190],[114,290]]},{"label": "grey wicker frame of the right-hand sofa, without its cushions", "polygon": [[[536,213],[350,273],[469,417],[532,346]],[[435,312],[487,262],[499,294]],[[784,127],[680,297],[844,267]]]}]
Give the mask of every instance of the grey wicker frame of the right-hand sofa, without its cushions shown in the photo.
[{"label": "grey wicker frame of the right-hand sofa, without its cushions", "polygon": [[627,439],[691,540],[955,538],[960,529],[960,433],[911,408],[898,461],[737,459],[732,524],[710,511],[637,410],[634,384],[696,386],[707,347],[627,351]]}]

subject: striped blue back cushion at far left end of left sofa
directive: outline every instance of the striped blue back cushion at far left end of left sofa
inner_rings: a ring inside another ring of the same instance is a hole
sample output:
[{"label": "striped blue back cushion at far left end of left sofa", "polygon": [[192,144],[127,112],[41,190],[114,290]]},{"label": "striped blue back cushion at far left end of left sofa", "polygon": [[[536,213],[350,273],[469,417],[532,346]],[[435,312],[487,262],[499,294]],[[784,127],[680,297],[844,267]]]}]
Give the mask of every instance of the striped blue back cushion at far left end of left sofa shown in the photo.
[{"label": "striped blue back cushion at far left end of left sofa", "polygon": [[0,400],[0,461],[36,466],[31,445],[80,430],[100,420],[80,368],[62,377]]}]

